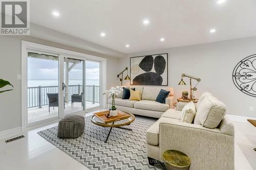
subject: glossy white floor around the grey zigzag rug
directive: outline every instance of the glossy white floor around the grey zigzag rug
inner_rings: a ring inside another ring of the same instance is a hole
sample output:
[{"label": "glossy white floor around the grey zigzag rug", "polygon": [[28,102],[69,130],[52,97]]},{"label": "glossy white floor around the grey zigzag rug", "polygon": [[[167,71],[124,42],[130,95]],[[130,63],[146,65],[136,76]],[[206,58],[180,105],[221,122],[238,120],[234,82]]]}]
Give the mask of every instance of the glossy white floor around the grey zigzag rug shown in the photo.
[{"label": "glossy white floor around the grey zigzag rug", "polygon": [[[99,111],[99,110],[97,110]],[[90,115],[92,113],[87,113]],[[256,128],[249,123],[235,125],[235,169],[256,169]],[[40,137],[37,132],[57,126],[57,123],[29,130],[26,138],[10,143],[0,140],[0,169],[2,170],[65,170],[88,169]]]}]

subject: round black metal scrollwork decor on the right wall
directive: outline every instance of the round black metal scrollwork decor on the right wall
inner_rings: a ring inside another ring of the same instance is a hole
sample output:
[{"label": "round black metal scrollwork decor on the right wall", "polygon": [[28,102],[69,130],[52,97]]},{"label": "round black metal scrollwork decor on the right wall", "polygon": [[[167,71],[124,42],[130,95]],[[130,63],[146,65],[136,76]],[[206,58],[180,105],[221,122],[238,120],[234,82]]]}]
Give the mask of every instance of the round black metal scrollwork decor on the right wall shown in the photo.
[{"label": "round black metal scrollwork decor on the right wall", "polygon": [[256,54],[246,57],[234,67],[233,82],[245,94],[256,97]]}]

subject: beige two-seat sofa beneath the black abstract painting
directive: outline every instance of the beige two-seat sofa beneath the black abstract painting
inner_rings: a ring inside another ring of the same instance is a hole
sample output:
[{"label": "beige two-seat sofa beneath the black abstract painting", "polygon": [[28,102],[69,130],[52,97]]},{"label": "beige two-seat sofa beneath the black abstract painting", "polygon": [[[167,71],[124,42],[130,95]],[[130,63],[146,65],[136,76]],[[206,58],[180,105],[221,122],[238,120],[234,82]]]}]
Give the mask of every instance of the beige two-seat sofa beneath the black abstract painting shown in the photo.
[{"label": "beige two-seat sofa beneath the black abstract painting", "polygon": [[[142,100],[130,101],[128,99],[116,98],[115,106],[118,110],[137,115],[160,118],[166,110],[173,108],[174,90],[172,87],[131,86],[131,88],[140,90]],[[164,104],[155,101],[161,89],[170,91]],[[112,99],[109,99],[108,103],[109,108],[111,108]]]}]

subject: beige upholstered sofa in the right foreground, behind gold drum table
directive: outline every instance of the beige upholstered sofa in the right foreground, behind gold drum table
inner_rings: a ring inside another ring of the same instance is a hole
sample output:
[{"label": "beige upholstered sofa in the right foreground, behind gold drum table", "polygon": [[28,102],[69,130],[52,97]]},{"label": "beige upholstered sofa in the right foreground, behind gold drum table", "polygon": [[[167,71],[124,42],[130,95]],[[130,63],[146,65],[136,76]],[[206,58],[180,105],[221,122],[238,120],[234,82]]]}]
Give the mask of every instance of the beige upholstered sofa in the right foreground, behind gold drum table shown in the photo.
[{"label": "beige upholstered sofa in the right foreground, behind gold drum table", "polygon": [[[197,109],[200,103],[204,101],[204,99],[201,99],[201,101],[200,99]],[[211,100],[212,103],[220,103],[216,98],[211,98]],[[204,102],[204,105],[205,103],[207,102]],[[185,105],[186,103],[177,103],[177,110],[167,110],[147,130],[147,156],[150,164],[154,164],[154,159],[162,161],[163,152],[172,149],[181,151],[189,156],[191,170],[234,169],[233,125],[228,123],[225,117],[220,119],[221,122],[214,129],[196,125],[195,123],[182,123],[180,121],[180,113]],[[195,117],[199,122],[204,118],[200,112],[198,109]],[[215,114],[218,115],[217,112]]]}]

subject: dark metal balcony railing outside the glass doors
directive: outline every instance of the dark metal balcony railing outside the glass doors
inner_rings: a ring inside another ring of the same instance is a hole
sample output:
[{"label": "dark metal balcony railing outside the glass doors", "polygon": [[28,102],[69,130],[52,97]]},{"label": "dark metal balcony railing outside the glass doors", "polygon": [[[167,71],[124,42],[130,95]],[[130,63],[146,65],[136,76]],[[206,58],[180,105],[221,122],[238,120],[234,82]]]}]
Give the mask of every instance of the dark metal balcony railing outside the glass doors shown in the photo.
[{"label": "dark metal balcony railing outside the glass doors", "polygon": [[[47,93],[58,93],[58,90],[58,86],[28,87],[28,108],[49,105]],[[69,101],[73,94],[80,94],[81,91],[82,85],[69,86]],[[86,86],[85,95],[87,102],[99,103],[99,86]]]}]

